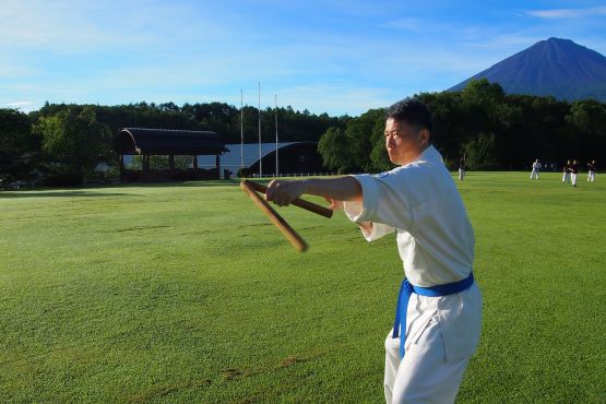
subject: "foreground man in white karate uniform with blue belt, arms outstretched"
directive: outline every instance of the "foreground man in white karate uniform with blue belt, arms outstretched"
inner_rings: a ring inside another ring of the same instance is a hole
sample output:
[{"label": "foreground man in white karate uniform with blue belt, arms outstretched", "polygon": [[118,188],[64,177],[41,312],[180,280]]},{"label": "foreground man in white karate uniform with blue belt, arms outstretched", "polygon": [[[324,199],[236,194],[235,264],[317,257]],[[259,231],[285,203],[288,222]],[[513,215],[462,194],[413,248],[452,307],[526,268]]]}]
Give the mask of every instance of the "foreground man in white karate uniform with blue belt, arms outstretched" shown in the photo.
[{"label": "foreground man in white karate uniform with blue belt, arms outstretched", "polygon": [[[331,209],[345,210],[368,241],[396,234],[406,280],[384,343],[385,401],[453,403],[482,325],[482,295],[472,272],[474,230],[431,145],[429,109],[415,98],[394,104],[384,134],[396,168],[379,175],[274,180],[266,198],[287,205],[304,193],[324,197]],[[380,257],[377,261],[381,265]]]}]

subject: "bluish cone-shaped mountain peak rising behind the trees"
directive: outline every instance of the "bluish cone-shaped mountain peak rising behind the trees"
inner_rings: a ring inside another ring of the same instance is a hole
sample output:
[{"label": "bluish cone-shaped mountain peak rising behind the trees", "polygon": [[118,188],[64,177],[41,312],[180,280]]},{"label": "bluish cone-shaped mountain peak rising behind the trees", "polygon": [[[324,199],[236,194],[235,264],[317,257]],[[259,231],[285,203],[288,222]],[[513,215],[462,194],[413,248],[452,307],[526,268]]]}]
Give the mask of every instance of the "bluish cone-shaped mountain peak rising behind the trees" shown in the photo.
[{"label": "bluish cone-shaped mountain peak rising behind the trees", "polygon": [[499,83],[508,94],[606,102],[606,57],[571,39],[540,40],[449,91],[463,90],[478,79]]}]

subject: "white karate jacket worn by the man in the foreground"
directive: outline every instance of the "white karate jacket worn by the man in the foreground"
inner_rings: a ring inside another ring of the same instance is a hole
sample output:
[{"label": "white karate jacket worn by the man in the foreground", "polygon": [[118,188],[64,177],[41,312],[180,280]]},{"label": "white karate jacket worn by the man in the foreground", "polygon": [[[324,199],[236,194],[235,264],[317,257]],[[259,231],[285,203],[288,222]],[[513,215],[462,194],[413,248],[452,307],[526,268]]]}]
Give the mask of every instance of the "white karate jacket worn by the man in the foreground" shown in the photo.
[{"label": "white karate jacket worn by the man in the foreground", "polygon": [[[350,221],[370,222],[368,241],[396,231],[405,276],[413,285],[435,286],[461,281],[474,263],[474,230],[442,156],[427,147],[415,162],[380,175],[353,176],[364,201],[345,202]],[[394,292],[399,285],[394,285]],[[394,308],[396,296],[394,293]],[[416,343],[430,318],[440,323],[448,360],[471,356],[482,326],[477,285],[459,294],[427,297],[413,294],[406,318],[406,346]]]}]

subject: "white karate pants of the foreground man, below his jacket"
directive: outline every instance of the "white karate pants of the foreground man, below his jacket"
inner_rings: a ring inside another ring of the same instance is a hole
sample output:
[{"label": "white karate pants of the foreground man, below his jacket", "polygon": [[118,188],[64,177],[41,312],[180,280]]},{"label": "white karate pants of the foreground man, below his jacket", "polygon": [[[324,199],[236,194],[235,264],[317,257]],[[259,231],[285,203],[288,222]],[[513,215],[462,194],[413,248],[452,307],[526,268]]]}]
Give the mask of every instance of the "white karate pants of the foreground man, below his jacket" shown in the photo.
[{"label": "white karate pants of the foreground man, below his jacket", "polygon": [[402,361],[400,338],[392,338],[392,332],[385,340],[385,402],[454,403],[470,358],[447,361],[440,324],[431,319]]}]

